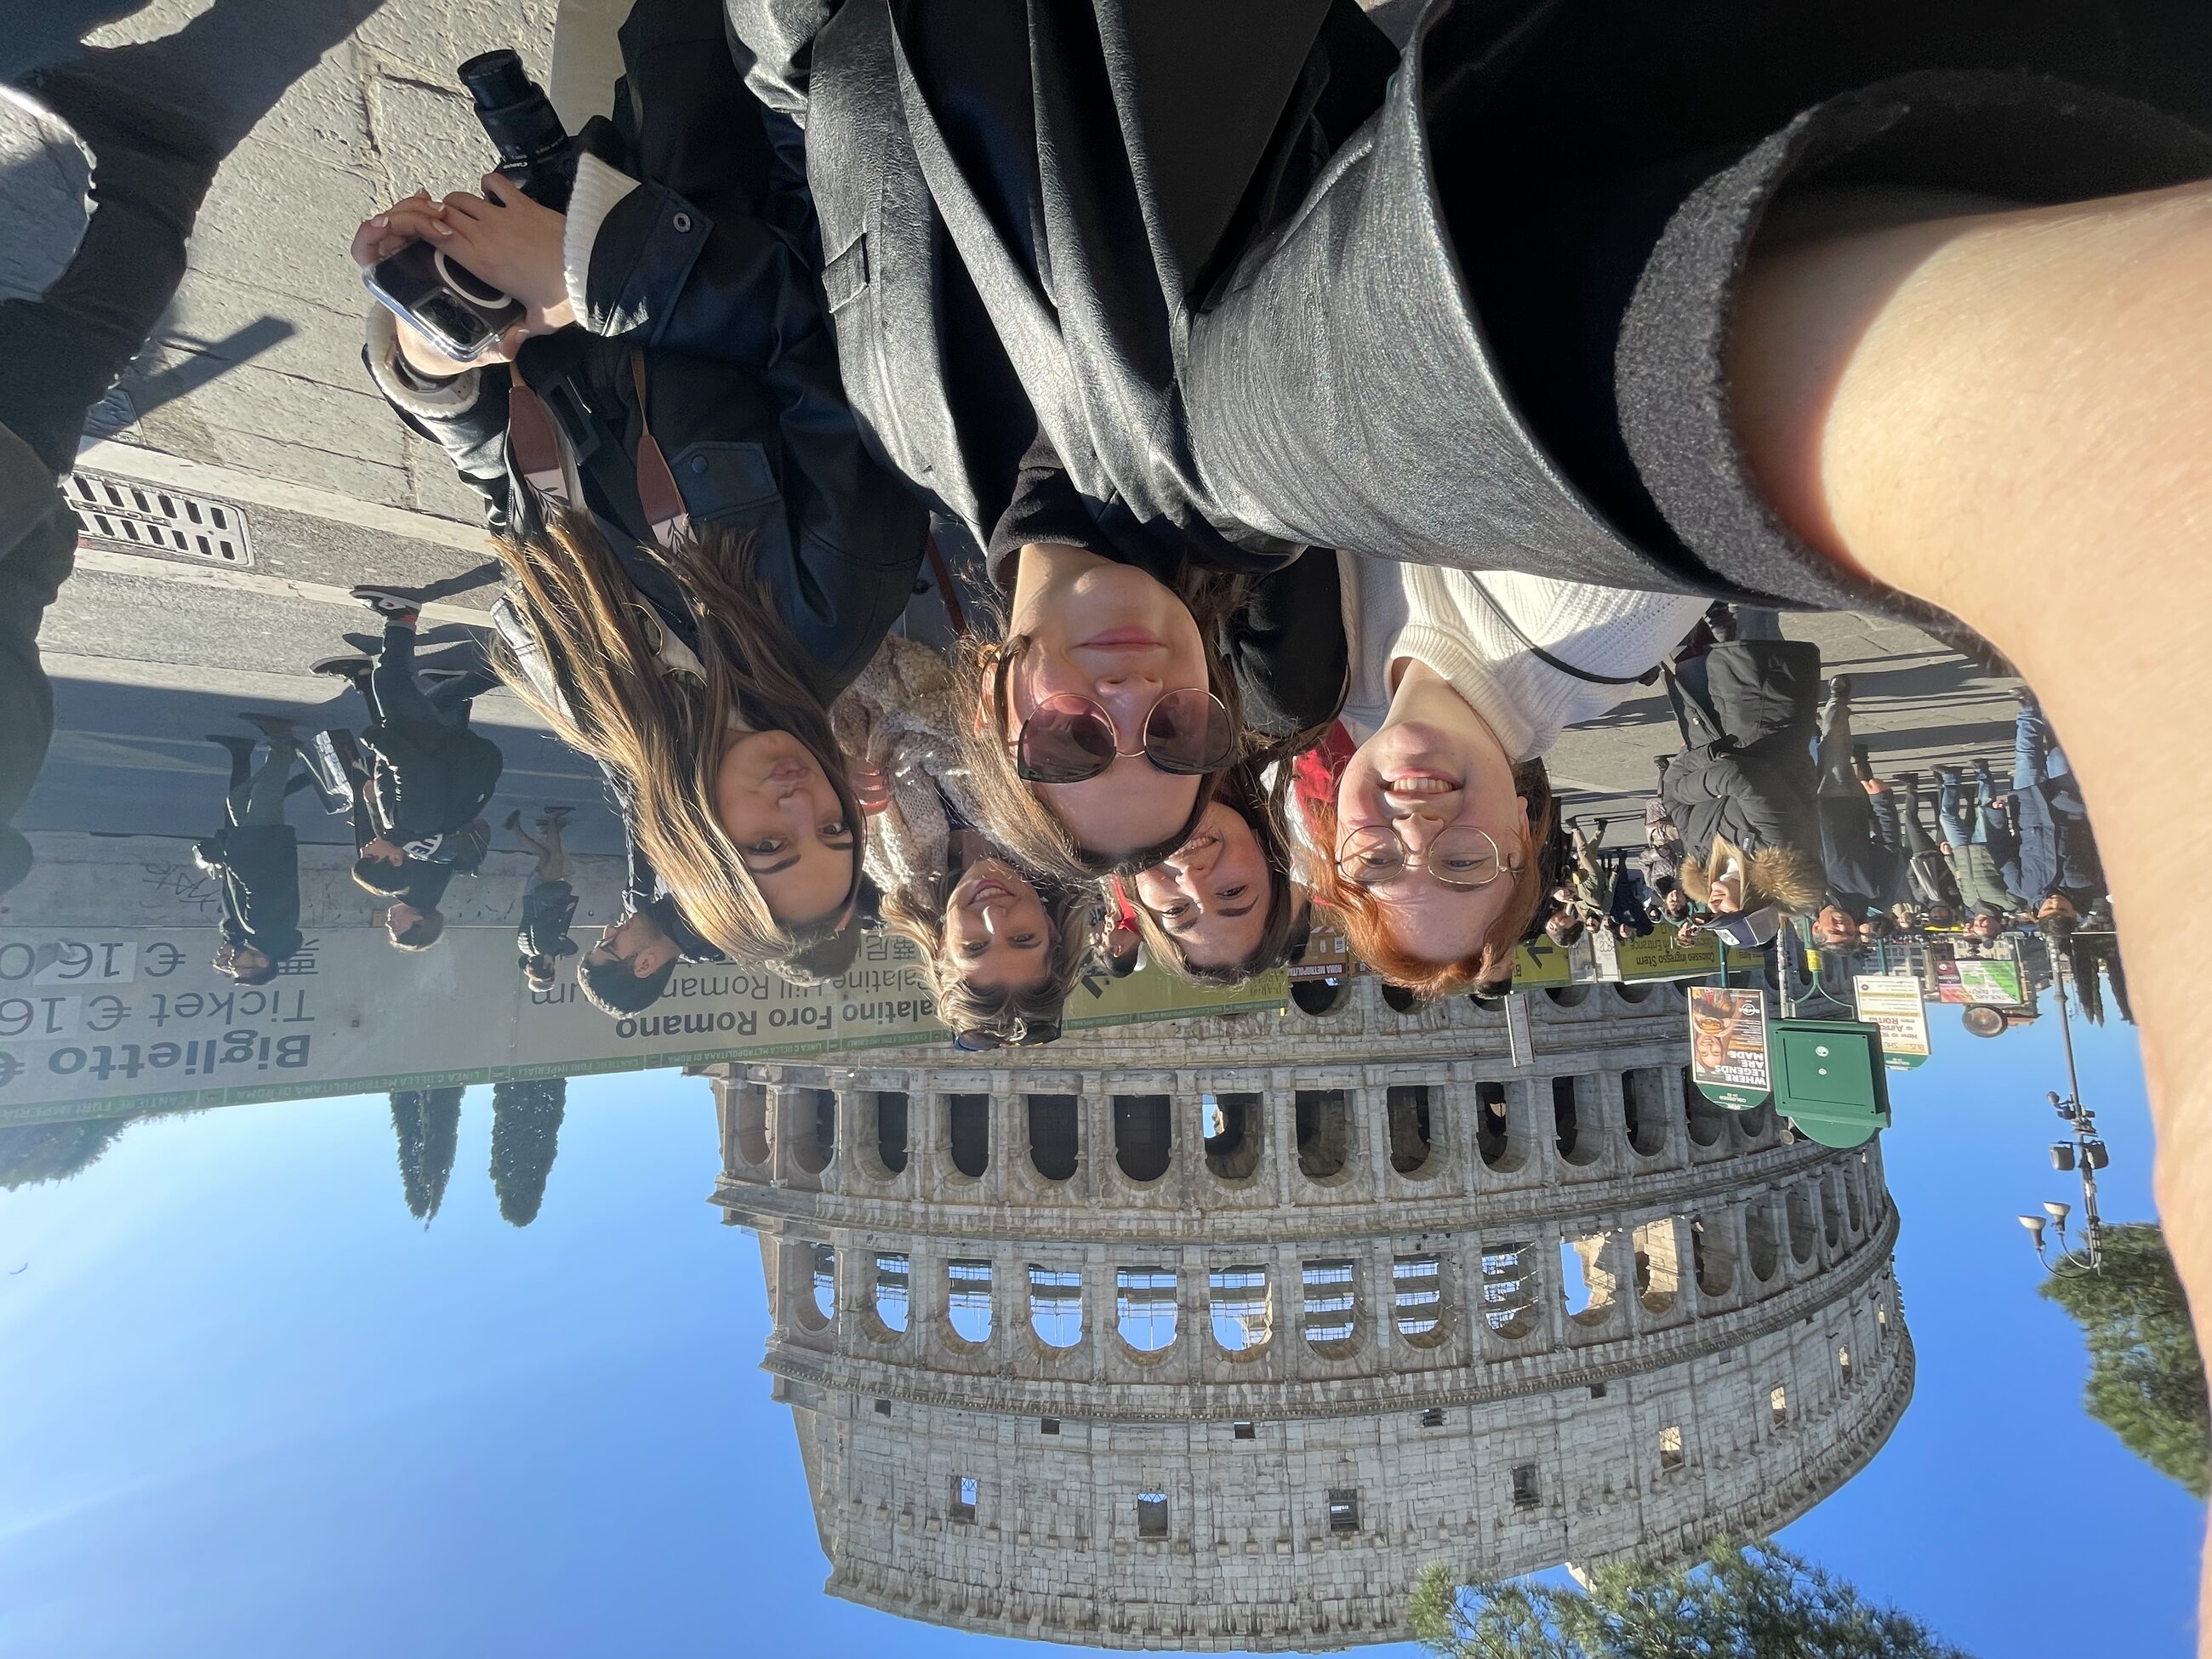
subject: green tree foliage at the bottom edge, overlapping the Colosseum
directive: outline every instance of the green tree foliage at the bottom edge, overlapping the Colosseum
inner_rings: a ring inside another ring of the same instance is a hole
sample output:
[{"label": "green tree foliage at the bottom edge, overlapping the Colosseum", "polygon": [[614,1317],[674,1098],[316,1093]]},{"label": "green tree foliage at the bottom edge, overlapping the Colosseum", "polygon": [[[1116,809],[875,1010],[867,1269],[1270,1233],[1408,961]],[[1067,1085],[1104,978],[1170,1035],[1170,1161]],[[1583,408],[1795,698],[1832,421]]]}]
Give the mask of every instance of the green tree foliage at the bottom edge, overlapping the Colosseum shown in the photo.
[{"label": "green tree foliage at the bottom edge, overlapping the Colosseum", "polygon": [[1772,1542],[1688,1566],[1604,1566],[1590,1588],[1460,1584],[1436,1564],[1407,1610],[1442,1659],[1966,1659]]}]

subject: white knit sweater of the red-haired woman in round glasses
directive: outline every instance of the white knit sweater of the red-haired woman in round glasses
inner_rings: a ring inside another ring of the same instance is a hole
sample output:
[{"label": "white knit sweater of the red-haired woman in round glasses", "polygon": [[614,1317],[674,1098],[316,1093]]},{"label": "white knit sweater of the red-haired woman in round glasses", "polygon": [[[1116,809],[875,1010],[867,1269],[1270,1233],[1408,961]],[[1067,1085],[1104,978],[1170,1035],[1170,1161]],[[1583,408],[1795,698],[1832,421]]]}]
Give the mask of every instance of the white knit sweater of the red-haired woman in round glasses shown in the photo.
[{"label": "white knit sweater of the red-haired woman in round glasses", "polygon": [[[1632,593],[1553,582],[1515,571],[1458,571],[1343,553],[1345,639],[1352,692],[1345,726],[1365,743],[1389,714],[1389,666],[1427,664],[1489,721],[1515,761],[1533,761],[1568,726],[1604,714],[1644,686],[1595,686],[1528,653],[1500,619],[1559,661],[1593,675],[1641,675],[1659,664],[1705,611],[1681,593]],[[1480,588],[1475,586],[1480,582]],[[1495,602],[1484,604],[1482,593]]]}]

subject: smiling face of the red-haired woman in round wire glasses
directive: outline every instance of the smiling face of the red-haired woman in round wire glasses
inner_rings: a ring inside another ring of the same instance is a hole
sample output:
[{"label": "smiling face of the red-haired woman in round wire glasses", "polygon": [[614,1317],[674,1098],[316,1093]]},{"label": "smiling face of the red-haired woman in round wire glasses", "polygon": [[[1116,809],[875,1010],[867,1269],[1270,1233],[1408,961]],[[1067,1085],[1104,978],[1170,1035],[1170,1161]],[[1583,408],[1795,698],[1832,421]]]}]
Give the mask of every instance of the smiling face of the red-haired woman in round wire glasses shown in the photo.
[{"label": "smiling face of the red-haired woman in round wire glasses", "polygon": [[1389,719],[1354,750],[1336,787],[1336,856],[1363,830],[1394,830],[1409,865],[1365,891],[1391,942],[1422,962],[1462,962],[1491,929],[1524,902],[1522,874],[1484,887],[1447,887],[1427,869],[1427,852],[1453,827],[1482,830],[1509,865],[1528,863],[1528,803],[1513,787],[1513,759],[1449,681],[1411,661],[1398,679]]}]

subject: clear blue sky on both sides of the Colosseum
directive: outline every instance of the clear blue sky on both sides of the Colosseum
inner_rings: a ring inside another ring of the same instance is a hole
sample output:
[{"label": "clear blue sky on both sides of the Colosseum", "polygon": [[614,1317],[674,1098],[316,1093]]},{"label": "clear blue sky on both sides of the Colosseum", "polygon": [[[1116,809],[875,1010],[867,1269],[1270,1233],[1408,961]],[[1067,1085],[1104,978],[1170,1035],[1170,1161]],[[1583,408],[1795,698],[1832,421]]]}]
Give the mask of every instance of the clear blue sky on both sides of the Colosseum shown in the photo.
[{"label": "clear blue sky on both sides of the Colosseum", "polygon": [[[1918,1394],[1785,1537],[1982,1659],[2185,1655],[2201,1506],[2081,1416],[2079,1336],[2013,1221],[2077,1197],[2044,1155],[2055,1022],[1936,1024],[1887,1141]],[[2148,1217],[2132,1031],[2077,1035],[2106,1212]],[[706,1203],[708,1086],[568,1099],[529,1230],[482,1175],[487,1091],[427,1232],[380,1097],[139,1124],[0,1194],[0,1274],[29,1263],[0,1276],[0,1652],[1071,1652],[821,1595],[759,1254]],[[2077,1533],[2095,1597],[2046,1588]]]}]

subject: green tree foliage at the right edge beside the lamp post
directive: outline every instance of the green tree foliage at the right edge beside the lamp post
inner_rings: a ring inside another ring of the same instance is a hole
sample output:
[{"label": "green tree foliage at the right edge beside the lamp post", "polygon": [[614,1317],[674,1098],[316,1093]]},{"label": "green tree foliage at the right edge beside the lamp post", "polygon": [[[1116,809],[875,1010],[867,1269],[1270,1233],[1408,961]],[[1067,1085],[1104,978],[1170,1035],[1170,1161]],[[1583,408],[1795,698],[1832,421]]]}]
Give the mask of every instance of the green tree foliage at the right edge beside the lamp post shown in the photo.
[{"label": "green tree foliage at the right edge beside the lamp post", "polygon": [[2137,1458],[2197,1498],[2212,1489],[2212,1407],[2166,1234],[2148,1221],[2106,1228],[2104,1272],[2046,1279],[2088,1340],[2081,1407]]}]

